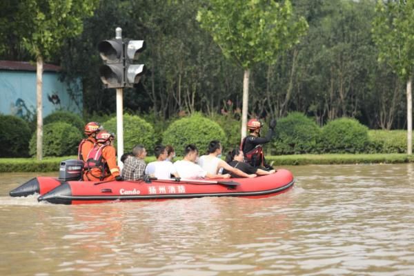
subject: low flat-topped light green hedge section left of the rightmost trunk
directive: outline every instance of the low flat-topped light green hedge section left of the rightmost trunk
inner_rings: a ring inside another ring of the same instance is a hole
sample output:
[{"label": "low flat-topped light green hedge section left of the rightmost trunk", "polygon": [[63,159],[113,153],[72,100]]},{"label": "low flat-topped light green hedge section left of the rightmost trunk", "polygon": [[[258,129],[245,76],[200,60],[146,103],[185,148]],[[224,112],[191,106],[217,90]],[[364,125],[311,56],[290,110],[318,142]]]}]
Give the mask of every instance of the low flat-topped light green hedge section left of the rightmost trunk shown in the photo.
[{"label": "low flat-topped light green hedge section left of the rightmost trunk", "polygon": [[404,153],[407,150],[407,132],[403,130],[368,130],[370,153]]}]

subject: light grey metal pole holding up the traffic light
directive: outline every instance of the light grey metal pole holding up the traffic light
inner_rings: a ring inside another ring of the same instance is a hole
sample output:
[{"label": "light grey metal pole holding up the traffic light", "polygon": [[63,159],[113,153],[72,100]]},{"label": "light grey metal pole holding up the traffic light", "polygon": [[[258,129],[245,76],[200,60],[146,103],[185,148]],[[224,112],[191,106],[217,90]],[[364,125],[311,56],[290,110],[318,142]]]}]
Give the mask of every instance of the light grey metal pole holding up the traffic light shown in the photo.
[{"label": "light grey metal pole holding up the traffic light", "polygon": [[[122,29],[115,29],[115,38],[122,39]],[[117,88],[117,155],[118,166],[122,170],[124,166],[121,162],[121,156],[124,154],[124,89]]]}]

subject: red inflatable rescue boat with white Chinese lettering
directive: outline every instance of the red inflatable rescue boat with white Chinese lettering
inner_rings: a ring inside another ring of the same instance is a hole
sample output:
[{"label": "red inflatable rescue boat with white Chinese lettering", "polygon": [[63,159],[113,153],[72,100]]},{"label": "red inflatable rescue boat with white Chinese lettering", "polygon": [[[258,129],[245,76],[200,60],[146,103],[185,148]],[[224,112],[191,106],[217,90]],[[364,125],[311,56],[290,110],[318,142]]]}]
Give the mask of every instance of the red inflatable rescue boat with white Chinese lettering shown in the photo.
[{"label": "red inflatable rescue boat with white Chinese lettering", "polygon": [[[66,173],[68,170],[66,170]],[[271,197],[295,183],[290,171],[234,179],[146,179],[138,181],[70,181],[66,176],[36,177],[10,191],[12,197],[39,193],[53,204],[95,204],[106,201],[186,199],[193,197]]]}]

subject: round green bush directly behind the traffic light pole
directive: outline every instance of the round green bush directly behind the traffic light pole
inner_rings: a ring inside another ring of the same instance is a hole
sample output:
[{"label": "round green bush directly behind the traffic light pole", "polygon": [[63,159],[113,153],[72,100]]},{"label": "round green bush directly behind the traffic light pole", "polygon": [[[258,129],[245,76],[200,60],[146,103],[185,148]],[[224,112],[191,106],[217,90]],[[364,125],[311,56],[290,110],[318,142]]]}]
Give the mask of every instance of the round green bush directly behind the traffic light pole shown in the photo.
[{"label": "round green bush directly behind the traffic light pole", "polygon": [[[103,123],[103,128],[108,132],[117,133],[117,118],[114,117]],[[154,128],[144,119],[135,115],[124,115],[124,152],[132,151],[137,144],[145,146],[149,154],[154,151]],[[117,139],[115,139],[117,148]]]}]

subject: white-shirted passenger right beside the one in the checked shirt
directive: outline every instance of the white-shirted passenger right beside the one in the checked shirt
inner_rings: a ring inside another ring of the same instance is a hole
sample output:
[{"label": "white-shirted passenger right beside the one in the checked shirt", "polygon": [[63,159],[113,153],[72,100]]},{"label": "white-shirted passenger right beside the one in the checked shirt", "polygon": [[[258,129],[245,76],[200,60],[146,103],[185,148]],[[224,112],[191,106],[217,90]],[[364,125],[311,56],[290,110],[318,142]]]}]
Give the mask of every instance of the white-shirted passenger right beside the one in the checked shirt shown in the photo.
[{"label": "white-shirted passenger right beside the one in the checked shirt", "polygon": [[145,169],[145,174],[157,179],[169,179],[171,175],[178,177],[174,165],[170,161],[166,161],[168,152],[165,146],[156,146],[154,149],[157,161],[150,162]]}]

